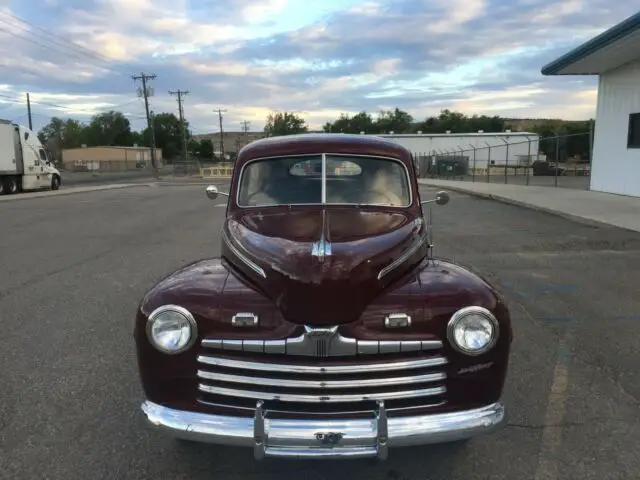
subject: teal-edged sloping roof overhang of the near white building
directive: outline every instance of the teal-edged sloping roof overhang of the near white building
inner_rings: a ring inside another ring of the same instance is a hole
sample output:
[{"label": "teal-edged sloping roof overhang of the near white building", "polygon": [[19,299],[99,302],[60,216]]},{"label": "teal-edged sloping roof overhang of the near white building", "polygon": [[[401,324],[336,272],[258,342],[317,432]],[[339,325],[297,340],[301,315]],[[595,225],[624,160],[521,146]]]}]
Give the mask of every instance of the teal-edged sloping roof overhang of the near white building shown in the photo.
[{"label": "teal-edged sloping roof overhang of the near white building", "polygon": [[542,67],[543,75],[597,75],[640,58],[640,12]]}]

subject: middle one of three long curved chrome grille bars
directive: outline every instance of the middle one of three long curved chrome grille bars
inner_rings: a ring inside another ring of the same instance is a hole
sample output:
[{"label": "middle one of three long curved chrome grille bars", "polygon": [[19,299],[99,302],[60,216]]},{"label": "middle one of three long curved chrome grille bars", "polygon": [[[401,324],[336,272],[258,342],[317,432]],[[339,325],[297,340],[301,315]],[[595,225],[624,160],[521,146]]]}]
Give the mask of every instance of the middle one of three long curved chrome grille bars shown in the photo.
[{"label": "middle one of three long curved chrome grille bars", "polygon": [[[212,373],[198,370],[198,377],[205,380],[216,380],[218,382],[227,383],[243,383],[252,384],[256,381],[255,377],[247,377],[244,375],[228,375],[225,373]],[[437,382],[444,380],[444,373],[427,373],[424,375],[392,377],[392,378],[368,378],[359,380],[287,380],[281,378],[260,378],[260,385],[267,387],[285,387],[285,388],[367,388],[367,387],[385,387],[389,385],[411,385],[416,383]]]}]

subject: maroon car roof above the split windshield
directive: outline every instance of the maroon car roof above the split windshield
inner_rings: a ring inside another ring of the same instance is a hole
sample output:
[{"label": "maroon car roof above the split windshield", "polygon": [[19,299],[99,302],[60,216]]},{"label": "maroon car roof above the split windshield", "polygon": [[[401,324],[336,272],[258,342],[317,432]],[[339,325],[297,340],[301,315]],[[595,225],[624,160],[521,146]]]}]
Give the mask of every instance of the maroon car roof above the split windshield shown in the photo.
[{"label": "maroon car roof above the split windshield", "polygon": [[376,135],[304,133],[255,140],[240,150],[235,168],[256,158],[321,153],[391,157],[410,163],[411,152],[399,143]]}]

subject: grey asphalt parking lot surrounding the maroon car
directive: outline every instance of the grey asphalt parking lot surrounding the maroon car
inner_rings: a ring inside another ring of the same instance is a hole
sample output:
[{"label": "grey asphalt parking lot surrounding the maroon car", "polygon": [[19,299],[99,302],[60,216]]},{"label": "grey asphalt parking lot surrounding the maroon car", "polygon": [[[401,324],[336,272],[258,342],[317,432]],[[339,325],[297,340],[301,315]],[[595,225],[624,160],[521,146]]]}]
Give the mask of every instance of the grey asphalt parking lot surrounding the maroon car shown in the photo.
[{"label": "grey asphalt parking lot surrounding the maroon car", "polygon": [[203,189],[0,203],[0,478],[638,478],[640,234],[462,194],[434,207],[436,254],[493,280],[512,310],[505,430],[381,464],[255,463],[149,431],[133,314],[155,281],[218,253],[224,200]]}]

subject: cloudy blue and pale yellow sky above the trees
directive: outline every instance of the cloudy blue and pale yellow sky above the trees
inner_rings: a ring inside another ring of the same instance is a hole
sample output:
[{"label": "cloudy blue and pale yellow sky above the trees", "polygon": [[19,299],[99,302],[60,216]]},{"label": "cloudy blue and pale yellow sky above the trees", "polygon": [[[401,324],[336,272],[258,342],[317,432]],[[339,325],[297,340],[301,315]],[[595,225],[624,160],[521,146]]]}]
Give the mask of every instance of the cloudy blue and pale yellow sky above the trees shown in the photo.
[{"label": "cloudy blue and pale yellow sky above the trees", "polygon": [[[542,65],[637,11],[611,0],[0,0],[0,118],[115,108],[135,128],[131,75],[154,73],[156,112],[189,90],[194,133],[269,111],[312,126],[340,112],[443,108],[511,117],[594,116],[596,79]],[[20,21],[22,20],[22,21]],[[24,23],[26,22],[26,23]],[[71,43],[73,42],[73,43]],[[76,46],[74,46],[74,44]]]}]

